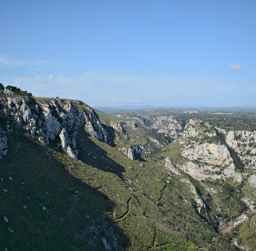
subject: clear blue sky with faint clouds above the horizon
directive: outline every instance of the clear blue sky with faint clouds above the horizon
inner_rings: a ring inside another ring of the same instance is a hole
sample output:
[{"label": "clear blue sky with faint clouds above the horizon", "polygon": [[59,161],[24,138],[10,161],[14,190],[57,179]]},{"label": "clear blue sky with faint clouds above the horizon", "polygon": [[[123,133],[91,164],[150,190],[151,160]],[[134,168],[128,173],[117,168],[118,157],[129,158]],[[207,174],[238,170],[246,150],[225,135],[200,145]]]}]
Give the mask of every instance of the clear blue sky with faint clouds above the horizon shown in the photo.
[{"label": "clear blue sky with faint clouds above the horizon", "polygon": [[256,105],[255,0],[0,0],[0,82],[119,105]]}]

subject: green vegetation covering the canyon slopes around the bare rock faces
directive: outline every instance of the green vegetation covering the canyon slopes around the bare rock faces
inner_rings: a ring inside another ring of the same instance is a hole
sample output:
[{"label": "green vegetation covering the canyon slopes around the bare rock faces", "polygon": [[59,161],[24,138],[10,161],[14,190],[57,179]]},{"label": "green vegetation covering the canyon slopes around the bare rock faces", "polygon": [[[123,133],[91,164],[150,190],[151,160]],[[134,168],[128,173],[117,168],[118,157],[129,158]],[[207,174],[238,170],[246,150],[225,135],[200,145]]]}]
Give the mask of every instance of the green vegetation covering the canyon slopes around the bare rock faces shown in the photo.
[{"label": "green vegetation covering the canyon slopes around the bare rock faces", "polygon": [[[0,95],[18,97],[15,93]],[[31,102],[65,104],[67,100],[33,97]],[[70,102],[79,111],[94,113],[83,102]],[[167,157],[177,166],[187,163],[182,156],[184,146],[204,142],[227,146],[219,131],[209,135],[216,132],[216,121],[219,128],[230,130],[235,115],[214,117],[199,110],[187,114],[178,109],[171,113],[151,109],[146,114],[126,111],[123,117],[97,113],[112,143],[97,141],[80,128],[76,139],[79,160],[52,142],[42,146],[21,132],[8,134],[8,153],[0,160],[3,250],[107,250],[106,243],[112,250],[127,251],[238,250],[231,243],[233,237],[238,244],[255,249],[255,215],[229,235],[220,234],[221,226],[246,213],[242,199],[256,198],[247,182],[254,172],[244,167],[235,151],[229,148],[236,169],[246,177],[241,183],[233,177],[199,181],[182,171],[168,176],[165,170]],[[175,115],[181,132],[189,118],[198,118],[194,127],[199,134],[173,140],[157,133],[150,127],[156,114]],[[6,118],[2,116],[0,122],[5,128]],[[126,132],[114,130],[112,122],[122,123]],[[252,119],[252,128],[254,122]],[[133,144],[145,147],[140,160],[130,160],[118,150]],[[207,165],[200,157],[193,161]]]}]

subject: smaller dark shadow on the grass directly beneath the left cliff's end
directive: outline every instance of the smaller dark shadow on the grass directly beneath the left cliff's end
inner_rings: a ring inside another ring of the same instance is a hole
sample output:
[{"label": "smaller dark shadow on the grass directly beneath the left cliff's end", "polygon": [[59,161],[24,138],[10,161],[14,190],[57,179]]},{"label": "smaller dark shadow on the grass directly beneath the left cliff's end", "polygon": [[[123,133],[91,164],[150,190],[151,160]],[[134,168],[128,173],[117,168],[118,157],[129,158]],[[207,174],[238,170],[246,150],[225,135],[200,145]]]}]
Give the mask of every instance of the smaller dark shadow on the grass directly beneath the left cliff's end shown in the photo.
[{"label": "smaller dark shadow on the grass directly beneath the left cliff's end", "polygon": [[86,133],[83,128],[79,130],[77,137],[77,145],[79,148],[78,159],[94,168],[106,172],[113,172],[123,179],[122,172],[125,171],[124,167],[108,157],[106,150],[103,149],[104,146],[102,148],[97,146],[89,136],[90,135]]}]

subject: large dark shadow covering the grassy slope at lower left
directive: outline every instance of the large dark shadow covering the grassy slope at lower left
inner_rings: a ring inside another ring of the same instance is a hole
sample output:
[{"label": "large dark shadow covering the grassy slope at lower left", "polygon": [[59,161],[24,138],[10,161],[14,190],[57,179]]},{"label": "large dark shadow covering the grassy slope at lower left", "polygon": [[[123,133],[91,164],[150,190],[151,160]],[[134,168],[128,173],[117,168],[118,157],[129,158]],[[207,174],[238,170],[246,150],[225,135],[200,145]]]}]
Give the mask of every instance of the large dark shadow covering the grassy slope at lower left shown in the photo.
[{"label": "large dark shadow covering the grassy slope at lower left", "polygon": [[[8,154],[0,160],[2,247],[8,250],[112,250],[129,240],[113,222],[110,200],[68,171],[61,154],[23,135],[8,136]],[[58,157],[56,157],[58,155]],[[77,161],[68,158],[74,166]],[[74,174],[75,175],[75,172]],[[13,238],[8,227],[15,233]],[[117,238],[117,246],[116,240]]]}]

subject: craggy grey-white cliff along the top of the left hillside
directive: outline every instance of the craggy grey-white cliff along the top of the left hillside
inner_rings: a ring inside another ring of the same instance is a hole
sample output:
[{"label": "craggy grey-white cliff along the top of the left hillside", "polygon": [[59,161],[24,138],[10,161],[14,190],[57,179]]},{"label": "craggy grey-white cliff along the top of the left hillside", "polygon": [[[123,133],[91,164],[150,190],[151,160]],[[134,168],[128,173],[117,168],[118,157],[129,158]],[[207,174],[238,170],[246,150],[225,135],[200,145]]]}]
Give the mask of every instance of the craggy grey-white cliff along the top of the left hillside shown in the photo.
[{"label": "craggy grey-white cliff along the top of the left hillside", "polygon": [[80,101],[30,98],[14,95],[0,98],[0,115],[7,121],[7,132],[23,131],[42,144],[56,146],[77,158],[78,129],[107,142],[107,133],[93,109]]}]

